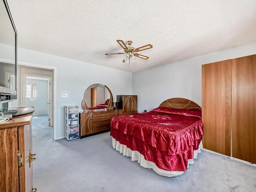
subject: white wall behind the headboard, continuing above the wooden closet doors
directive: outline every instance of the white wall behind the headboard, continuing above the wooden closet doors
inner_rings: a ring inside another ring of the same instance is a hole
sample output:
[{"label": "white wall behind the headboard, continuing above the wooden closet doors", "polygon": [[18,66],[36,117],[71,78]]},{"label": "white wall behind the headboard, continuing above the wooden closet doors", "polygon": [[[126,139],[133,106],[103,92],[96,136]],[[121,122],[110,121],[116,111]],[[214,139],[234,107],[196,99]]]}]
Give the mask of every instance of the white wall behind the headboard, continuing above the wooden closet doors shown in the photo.
[{"label": "white wall behind the headboard, continuing above the wooden closet doors", "polygon": [[188,98],[201,105],[202,64],[253,54],[256,42],[133,73],[138,111],[152,110],[173,97]]}]

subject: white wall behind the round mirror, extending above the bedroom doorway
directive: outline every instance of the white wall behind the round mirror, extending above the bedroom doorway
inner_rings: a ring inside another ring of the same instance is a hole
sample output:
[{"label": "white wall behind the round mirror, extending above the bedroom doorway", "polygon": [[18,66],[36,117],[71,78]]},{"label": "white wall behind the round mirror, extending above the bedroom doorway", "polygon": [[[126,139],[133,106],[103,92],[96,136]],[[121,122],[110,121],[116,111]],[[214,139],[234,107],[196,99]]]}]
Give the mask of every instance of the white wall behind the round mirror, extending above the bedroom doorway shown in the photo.
[{"label": "white wall behind the round mirror, extending above the bedroom doorway", "polygon": [[[0,44],[0,60],[11,59],[8,54],[10,46]],[[18,49],[18,61],[35,63],[38,65],[56,67],[56,139],[65,137],[66,104],[81,106],[83,93],[91,84],[101,83],[110,88],[114,100],[116,95],[132,93],[132,73],[81,62],[55,55],[36,51]],[[61,93],[68,93],[68,97],[61,97]],[[80,107],[81,110],[81,107]]]}]

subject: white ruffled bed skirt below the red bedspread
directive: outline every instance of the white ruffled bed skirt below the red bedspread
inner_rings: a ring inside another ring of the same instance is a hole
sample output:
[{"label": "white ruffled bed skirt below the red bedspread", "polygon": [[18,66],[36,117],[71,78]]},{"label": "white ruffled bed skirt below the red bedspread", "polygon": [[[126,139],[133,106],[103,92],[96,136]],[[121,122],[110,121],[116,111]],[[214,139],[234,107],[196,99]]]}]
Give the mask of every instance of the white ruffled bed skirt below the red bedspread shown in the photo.
[{"label": "white ruffled bed skirt below the red bedspread", "polygon": [[[184,173],[184,172],[180,172],[180,171],[164,170],[164,169],[157,167],[154,162],[145,160],[144,156],[142,154],[140,154],[138,151],[132,151],[126,145],[119,143],[119,141],[115,140],[113,137],[112,137],[112,145],[113,145],[113,148],[115,148],[116,151],[119,151],[119,153],[122,153],[123,156],[132,157],[132,161],[138,161],[140,166],[143,166],[145,168],[152,168],[159,175],[166,176],[166,177],[175,177],[175,176],[178,176],[178,175],[181,175]],[[197,155],[198,155],[198,153],[201,153],[202,148],[203,148],[203,144],[201,141],[199,144],[198,150],[194,151],[193,159],[197,158]],[[193,159],[188,159],[187,168],[188,168],[189,164],[194,164]]]}]

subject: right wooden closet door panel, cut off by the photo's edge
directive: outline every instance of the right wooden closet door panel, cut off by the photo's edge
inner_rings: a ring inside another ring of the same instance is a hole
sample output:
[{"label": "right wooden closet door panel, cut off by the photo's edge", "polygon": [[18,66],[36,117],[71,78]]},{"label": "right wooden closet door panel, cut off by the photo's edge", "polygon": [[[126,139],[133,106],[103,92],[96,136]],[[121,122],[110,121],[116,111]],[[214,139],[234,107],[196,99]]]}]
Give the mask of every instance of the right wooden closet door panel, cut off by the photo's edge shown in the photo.
[{"label": "right wooden closet door panel, cut off by the photo's edge", "polygon": [[256,55],[232,59],[232,156],[256,163]]}]

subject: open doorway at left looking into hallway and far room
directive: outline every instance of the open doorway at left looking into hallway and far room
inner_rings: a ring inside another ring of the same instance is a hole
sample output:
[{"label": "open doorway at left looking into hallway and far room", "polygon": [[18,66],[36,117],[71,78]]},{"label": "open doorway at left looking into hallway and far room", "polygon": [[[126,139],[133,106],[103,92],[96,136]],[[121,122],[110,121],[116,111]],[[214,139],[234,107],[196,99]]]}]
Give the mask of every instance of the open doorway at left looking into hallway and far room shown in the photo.
[{"label": "open doorway at left looking into hallway and far room", "polygon": [[[19,65],[18,95],[20,106],[34,106],[33,134],[47,131],[46,139],[54,139],[54,69]],[[36,135],[33,135],[36,137]]]}]

